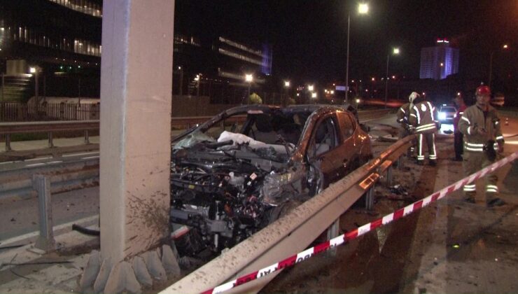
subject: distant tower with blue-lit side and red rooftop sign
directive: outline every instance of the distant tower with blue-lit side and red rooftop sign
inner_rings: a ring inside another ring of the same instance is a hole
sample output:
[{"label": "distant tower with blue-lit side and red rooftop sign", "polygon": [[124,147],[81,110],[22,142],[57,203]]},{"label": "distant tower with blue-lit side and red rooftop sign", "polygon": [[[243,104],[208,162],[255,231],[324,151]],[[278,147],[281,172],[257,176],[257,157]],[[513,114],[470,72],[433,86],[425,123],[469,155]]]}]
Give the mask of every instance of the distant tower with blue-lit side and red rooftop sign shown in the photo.
[{"label": "distant tower with blue-lit side and red rooftop sign", "polygon": [[449,47],[447,39],[437,39],[434,47],[421,49],[419,78],[442,80],[458,73],[458,49]]}]

